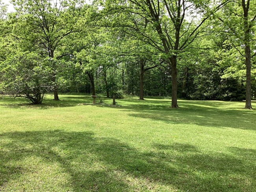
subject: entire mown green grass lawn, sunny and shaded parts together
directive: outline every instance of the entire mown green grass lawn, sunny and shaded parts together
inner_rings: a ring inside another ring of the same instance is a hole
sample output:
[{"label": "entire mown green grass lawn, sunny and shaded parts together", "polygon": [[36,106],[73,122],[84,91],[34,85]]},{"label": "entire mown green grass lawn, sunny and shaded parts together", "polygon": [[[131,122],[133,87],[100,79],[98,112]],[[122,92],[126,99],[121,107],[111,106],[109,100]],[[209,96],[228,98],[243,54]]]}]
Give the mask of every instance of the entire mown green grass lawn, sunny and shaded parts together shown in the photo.
[{"label": "entire mown green grass lawn, sunny and shaded parts together", "polygon": [[256,191],[256,111],[244,102],[60,99],[0,100],[1,192]]}]

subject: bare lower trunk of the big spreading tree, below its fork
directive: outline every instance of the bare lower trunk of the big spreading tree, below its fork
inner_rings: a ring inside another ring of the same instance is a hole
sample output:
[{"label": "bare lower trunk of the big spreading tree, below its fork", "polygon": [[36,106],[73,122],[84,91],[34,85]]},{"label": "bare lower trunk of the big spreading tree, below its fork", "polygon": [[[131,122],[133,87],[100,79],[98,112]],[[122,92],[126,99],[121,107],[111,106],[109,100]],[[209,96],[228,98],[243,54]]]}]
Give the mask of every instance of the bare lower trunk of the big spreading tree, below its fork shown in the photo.
[{"label": "bare lower trunk of the big spreading tree, below its fork", "polygon": [[171,71],[172,71],[172,107],[178,108],[177,103],[177,57],[171,57]]}]

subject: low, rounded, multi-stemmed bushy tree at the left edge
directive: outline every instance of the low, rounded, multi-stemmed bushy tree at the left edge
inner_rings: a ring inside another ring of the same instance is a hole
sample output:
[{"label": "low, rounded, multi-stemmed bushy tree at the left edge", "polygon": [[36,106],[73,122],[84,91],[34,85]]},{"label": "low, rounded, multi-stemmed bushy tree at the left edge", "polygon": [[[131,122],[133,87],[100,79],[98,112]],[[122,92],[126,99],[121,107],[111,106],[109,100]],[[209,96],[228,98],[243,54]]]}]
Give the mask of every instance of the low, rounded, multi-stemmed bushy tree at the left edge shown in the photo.
[{"label": "low, rounded, multi-stemmed bushy tree at the left edge", "polygon": [[49,59],[34,53],[18,53],[0,65],[0,89],[4,94],[20,96],[33,104],[40,104],[52,90],[52,70]]}]

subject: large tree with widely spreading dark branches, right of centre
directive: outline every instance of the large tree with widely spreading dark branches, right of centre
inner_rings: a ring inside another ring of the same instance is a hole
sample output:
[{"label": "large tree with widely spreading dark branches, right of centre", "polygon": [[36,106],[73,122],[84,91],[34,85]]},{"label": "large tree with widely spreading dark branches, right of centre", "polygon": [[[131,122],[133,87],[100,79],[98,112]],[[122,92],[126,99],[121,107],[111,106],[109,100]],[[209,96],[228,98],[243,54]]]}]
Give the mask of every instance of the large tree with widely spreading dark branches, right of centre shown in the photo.
[{"label": "large tree with widely spreading dark branches, right of centre", "polygon": [[[109,0],[104,6],[109,15],[117,13],[113,26],[132,30],[134,37],[161,52],[161,57],[171,68],[172,107],[177,108],[177,57],[186,52],[192,42],[200,37],[201,26],[210,15],[228,1]],[[141,22],[134,22],[137,20],[135,17],[141,18]],[[121,20],[117,21],[117,18]],[[147,26],[137,28],[137,25]]]}]

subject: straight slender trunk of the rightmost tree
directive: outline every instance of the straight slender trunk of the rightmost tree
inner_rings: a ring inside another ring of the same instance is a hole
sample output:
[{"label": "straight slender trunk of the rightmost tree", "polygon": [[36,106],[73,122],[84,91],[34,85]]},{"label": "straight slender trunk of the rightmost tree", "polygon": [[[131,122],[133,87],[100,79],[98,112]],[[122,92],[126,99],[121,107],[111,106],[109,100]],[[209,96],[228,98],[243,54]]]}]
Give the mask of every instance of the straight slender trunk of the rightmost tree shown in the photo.
[{"label": "straight slender trunk of the rightmost tree", "polygon": [[248,23],[250,0],[242,0],[243,6],[243,24],[245,30],[245,66],[246,66],[246,94],[245,94],[245,109],[252,109],[252,89],[251,89],[251,55],[250,55],[250,26]]}]

